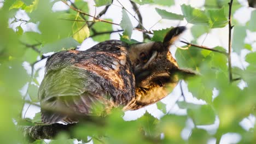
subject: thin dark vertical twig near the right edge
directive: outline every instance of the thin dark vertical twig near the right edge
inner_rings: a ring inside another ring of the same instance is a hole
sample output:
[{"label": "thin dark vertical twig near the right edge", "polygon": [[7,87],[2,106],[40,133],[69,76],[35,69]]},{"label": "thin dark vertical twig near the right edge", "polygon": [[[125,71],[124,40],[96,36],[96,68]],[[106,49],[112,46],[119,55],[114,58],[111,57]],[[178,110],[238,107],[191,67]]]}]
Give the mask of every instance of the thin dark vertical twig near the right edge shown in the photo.
[{"label": "thin dark vertical twig near the right edge", "polygon": [[232,82],[232,66],[231,66],[231,30],[234,26],[231,25],[231,10],[232,10],[233,0],[229,2],[229,81]]}]

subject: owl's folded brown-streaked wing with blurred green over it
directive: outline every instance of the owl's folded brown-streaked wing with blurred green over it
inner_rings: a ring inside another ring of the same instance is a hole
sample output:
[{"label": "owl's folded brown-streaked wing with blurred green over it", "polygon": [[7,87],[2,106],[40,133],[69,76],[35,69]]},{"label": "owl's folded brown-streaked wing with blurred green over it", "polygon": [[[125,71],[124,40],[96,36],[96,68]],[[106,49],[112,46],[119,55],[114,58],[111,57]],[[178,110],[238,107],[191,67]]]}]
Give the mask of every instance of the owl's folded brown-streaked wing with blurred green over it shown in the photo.
[{"label": "owl's folded brown-streaked wing with blurred green over it", "polygon": [[98,103],[129,103],[135,95],[131,62],[124,45],[112,47],[108,51],[62,51],[48,59],[38,93],[44,123],[75,122],[72,113],[89,115]]}]

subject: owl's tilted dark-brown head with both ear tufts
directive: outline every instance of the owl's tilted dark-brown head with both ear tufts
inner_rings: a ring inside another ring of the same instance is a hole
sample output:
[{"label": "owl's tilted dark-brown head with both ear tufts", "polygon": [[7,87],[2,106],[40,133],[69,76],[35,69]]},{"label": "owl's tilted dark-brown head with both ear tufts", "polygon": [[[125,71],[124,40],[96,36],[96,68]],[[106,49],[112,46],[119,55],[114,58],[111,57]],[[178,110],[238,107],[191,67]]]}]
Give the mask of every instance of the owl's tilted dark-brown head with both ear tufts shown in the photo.
[{"label": "owl's tilted dark-brown head with both ear tufts", "polygon": [[177,83],[177,72],[192,73],[189,70],[179,69],[169,51],[169,47],[185,29],[185,27],[172,28],[163,41],[131,45],[129,56],[137,87],[149,88],[152,85],[162,86],[167,82]]}]

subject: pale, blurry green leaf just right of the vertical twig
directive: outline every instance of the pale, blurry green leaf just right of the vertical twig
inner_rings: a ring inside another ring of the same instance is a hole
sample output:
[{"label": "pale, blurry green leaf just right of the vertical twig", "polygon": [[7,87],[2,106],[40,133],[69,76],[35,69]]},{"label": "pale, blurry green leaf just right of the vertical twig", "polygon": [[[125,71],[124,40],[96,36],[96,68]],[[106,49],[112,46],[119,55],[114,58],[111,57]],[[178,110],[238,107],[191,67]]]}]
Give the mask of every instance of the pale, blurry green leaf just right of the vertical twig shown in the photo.
[{"label": "pale, blurry green leaf just right of the vertical twig", "polygon": [[233,37],[232,37],[232,49],[240,55],[241,50],[245,46],[246,37],[246,27],[245,26],[235,26]]}]

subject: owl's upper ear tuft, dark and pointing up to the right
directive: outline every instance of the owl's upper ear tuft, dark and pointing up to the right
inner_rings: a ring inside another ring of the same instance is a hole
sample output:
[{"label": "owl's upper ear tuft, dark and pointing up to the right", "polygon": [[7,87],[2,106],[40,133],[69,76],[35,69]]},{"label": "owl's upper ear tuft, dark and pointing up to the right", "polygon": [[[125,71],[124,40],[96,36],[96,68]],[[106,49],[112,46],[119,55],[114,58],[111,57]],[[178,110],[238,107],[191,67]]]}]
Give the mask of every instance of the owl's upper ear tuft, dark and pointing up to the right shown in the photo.
[{"label": "owl's upper ear tuft, dark and pointing up to the right", "polygon": [[181,35],[187,28],[184,26],[181,27],[174,27],[172,28],[166,35],[164,38],[164,41],[162,42],[164,45],[166,45],[167,47],[172,45],[174,41],[176,41],[179,37],[179,35]]}]

